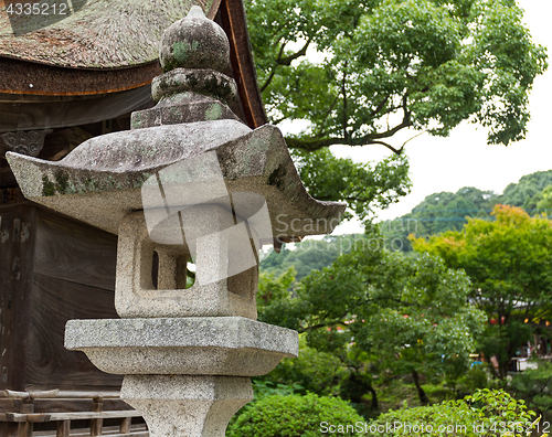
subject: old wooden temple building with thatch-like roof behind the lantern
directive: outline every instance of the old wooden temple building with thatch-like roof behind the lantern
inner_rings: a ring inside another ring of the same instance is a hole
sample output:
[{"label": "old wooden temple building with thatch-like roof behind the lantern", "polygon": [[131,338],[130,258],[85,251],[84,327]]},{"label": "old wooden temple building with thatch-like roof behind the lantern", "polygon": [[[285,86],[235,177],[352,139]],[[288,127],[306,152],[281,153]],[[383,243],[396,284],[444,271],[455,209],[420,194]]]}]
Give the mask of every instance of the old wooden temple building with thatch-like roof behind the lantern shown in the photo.
[{"label": "old wooden temple building with thatch-like roof behind the lantern", "polygon": [[[121,376],[98,371],[63,343],[70,319],[117,317],[117,236],[25,200],[4,154],[59,161],[89,138],[129,129],[132,111],[153,106],[163,31],[192,6],[229,38],[225,73],[238,88],[231,109],[251,128],[266,124],[244,7],[242,0],[25,4],[0,2],[0,435],[63,437],[75,426],[102,435],[113,425],[146,436],[134,428],[136,412],[117,398]],[[102,409],[115,411],[113,424],[97,418]]]}]

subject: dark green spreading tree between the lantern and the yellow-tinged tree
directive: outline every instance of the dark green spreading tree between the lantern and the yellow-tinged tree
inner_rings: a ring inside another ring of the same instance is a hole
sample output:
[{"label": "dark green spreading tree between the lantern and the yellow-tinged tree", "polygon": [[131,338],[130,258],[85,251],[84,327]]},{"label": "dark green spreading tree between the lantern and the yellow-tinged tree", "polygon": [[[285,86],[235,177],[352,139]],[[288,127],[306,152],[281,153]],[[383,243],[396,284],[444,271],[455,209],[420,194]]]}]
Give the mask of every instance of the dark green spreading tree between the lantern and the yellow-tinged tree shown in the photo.
[{"label": "dark green spreading tree between the lantern and the yellow-tinged tree", "polygon": [[438,258],[391,254],[375,237],[359,243],[269,302],[259,319],[305,332],[309,347],[339,356],[358,381],[365,382],[361,353],[412,373],[427,402],[420,371],[454,381],[468,369],[473,333],[481,328],[481,315],[467,305],[469,281]]}]

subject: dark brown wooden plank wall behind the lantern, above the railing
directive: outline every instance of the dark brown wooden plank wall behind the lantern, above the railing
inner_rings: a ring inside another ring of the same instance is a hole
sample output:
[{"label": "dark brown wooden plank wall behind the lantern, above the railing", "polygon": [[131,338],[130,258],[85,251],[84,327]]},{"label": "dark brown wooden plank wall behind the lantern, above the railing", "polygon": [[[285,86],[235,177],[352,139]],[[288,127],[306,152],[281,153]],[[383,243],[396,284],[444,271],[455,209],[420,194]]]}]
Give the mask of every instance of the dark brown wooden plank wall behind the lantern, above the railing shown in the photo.
[{"label": "dark brown wooden plank wall behind the lantern, above the railing", "polygon": [[119,387],[63,347],[67,320],[117,318],[117,237],[21,198],[0,220],[0,390]]}]

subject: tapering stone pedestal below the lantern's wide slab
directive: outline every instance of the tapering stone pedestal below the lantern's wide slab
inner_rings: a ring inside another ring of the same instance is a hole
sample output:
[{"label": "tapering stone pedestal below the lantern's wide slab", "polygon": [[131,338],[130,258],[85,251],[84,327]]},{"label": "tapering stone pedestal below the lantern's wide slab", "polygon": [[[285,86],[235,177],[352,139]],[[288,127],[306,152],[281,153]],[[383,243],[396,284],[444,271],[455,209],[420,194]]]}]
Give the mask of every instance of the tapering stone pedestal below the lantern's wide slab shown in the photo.
[{"label": "tapering stone pedestal below the lantern's wide slab", "polygon": [[120,397],[144,415],[150,437],[224,437],[253,390],[248,377],[129,375]]}]

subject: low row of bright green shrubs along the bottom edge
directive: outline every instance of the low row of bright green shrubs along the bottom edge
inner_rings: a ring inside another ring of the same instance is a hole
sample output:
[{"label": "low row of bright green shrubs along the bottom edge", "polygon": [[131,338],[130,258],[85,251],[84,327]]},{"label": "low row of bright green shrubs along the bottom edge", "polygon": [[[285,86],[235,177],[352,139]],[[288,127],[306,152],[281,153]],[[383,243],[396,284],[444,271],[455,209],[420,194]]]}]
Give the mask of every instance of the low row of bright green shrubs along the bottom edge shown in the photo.
[{"label": "low row of bright green shrubs along the bottom edge", "polygon": [[541,422],[523,401],[502,390],[478,390],[459,401],[421,407],[403,407],[375,420],[359,416],[336,398],[273,394],[246,405],[226,430],[227,437],[336,436],[546,436]]}]

